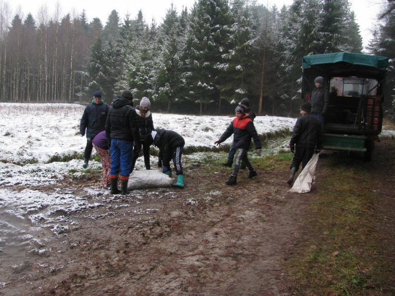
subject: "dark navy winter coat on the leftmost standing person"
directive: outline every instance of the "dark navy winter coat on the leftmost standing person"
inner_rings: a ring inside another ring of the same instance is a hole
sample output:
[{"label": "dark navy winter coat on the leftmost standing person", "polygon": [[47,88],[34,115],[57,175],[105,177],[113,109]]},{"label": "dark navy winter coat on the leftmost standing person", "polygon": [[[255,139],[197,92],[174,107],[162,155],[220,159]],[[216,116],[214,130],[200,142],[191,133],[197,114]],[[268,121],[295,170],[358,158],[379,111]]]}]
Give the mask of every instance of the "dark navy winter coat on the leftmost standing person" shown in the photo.
[{"label": "dark navy winter coat on the leftmost standing person", "polygon": [[104,131],[109,110],[110,106],[103,100],[99,104],[92,101],[91,104],[87,105],[80,122],[80,134],[84,136],[86,130],[86,138],[94,138],[101,131]]}]

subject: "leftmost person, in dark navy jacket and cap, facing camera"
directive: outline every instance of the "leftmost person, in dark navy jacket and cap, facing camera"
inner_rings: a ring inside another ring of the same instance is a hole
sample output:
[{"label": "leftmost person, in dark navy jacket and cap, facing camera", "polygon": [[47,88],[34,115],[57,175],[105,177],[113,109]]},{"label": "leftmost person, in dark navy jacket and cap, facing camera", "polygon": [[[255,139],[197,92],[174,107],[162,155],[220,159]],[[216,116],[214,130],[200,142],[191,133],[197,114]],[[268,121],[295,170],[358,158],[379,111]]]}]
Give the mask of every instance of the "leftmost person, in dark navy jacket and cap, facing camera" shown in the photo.
[{"label": "leftmost person, in dark navy jacket and cap, facing camera", "polygon": [[100,91],[95,91],[93,93],[92,103],[85,107],[80,122],[81,136],[85,136],[86,130],[86,146],[84,151],[84,164],[82,166],[84,169],[88,167],[89,158],[91,158],[93,149],[92,139],[95,138],[97,134],[104,131],[105,120],[109,110],[110,107],[102,100]]}]

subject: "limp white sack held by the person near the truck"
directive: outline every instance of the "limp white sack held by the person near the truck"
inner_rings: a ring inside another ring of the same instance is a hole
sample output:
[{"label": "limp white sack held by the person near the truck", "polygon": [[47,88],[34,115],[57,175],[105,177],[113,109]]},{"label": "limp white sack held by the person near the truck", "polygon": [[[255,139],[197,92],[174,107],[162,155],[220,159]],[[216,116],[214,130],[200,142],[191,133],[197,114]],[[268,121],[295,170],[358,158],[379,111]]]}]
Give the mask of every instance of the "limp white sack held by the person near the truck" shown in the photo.
[{"label": "limp white sack held by the person near the truck", "polygon": [[318,154],[314,153],[310,158],[309,162],[304,167],[303,171],[300,172],[296,178],[294,186],[287,192],[290,193],[306,193],[311,190],[315,183],[315,170],[318,163]]}]

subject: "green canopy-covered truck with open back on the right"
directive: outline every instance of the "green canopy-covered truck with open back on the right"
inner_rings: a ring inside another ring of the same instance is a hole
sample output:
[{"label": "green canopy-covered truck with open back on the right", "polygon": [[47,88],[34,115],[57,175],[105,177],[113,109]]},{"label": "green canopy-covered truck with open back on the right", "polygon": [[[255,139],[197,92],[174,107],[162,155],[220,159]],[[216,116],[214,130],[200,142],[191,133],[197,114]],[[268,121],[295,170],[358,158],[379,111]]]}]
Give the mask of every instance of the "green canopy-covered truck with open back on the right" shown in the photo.
[{"label": "green canopy-covered truck with open back on the right", "polygon": [[387,66],[388,58],[361,53],[303,57],[303,101],[310,100],[317,76],[329,91],[323,149],[362,152],[370,160],[382,129]]}]

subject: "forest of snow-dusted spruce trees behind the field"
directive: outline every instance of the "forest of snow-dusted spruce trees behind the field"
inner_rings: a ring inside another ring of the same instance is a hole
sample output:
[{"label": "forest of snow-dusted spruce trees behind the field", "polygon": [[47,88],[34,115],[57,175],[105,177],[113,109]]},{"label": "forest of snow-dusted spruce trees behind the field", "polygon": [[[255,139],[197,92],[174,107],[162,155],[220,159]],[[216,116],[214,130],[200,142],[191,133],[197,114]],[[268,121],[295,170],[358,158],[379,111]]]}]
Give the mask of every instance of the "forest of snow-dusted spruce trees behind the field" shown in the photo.
[{"label": "forest of snow-dusted spruce trees behind the field", "polygon": [[[395,58],[393,1],[383,7],[366,52]],[[59,11],[60,9],[56,9]],[[83,102],[101,90],[150,98],[153,110],[231,113],[248,97],[260,115],[291,116],[304,55],[362,52],[348,0],[295,0],[270,8],[249,0],[196,0],[168,8],[163,23],[113,10],[99,18],[11,15],[0,0],[0,101]],[[395,87],[390,60],[386,108]]]}]

